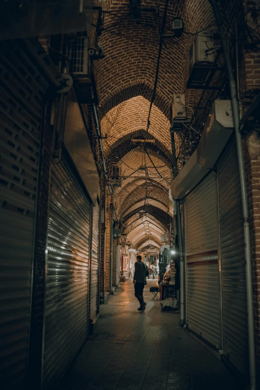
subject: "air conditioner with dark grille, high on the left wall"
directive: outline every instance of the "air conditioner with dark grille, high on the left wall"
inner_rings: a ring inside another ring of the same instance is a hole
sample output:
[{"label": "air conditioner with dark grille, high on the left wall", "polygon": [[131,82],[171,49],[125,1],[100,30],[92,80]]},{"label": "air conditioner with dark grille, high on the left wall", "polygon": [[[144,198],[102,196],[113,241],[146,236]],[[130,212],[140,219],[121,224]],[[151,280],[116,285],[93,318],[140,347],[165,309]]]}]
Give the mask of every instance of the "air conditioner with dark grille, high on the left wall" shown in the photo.
[{"label": "air conditioner with dark grille, high on the left wall", "polygon": [[67,57],[70,59],[70,73],[89,74],[89,37],[73,36],[67,41]]}]

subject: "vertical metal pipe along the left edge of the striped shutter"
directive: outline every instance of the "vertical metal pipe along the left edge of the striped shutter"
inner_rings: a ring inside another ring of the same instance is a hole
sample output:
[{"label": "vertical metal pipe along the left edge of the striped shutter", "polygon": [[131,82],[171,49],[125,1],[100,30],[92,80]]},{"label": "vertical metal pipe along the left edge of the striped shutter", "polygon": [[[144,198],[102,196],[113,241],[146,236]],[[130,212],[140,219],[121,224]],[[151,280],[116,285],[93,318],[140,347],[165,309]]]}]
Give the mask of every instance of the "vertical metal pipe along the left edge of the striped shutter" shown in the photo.
[{"label": "vertical metal pipe along the left edge of the striped shutter", "polygon": [[184,263],[183,263],[181,212],[180,212],[179,200],[176,200],[176,212],[177,212],[177,231],[178,231],[178,245],[179,245],[179,256],[180,256],[180,326],[183,326],[184,325]]}]

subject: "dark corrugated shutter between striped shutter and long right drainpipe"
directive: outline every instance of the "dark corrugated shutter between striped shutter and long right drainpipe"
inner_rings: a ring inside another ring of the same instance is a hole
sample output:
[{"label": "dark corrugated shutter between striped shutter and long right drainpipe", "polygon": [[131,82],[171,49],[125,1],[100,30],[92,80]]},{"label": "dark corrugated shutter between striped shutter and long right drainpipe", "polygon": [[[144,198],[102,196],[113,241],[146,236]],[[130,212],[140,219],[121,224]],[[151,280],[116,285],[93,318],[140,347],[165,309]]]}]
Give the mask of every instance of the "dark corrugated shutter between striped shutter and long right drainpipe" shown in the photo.
[{"label": "dark corrugated shutter between striped shutter and long right drainpipe", "polygon": [[236,143],[218,164],[224,354],[243,374],[248,368],[248,322],[243,213]]}]

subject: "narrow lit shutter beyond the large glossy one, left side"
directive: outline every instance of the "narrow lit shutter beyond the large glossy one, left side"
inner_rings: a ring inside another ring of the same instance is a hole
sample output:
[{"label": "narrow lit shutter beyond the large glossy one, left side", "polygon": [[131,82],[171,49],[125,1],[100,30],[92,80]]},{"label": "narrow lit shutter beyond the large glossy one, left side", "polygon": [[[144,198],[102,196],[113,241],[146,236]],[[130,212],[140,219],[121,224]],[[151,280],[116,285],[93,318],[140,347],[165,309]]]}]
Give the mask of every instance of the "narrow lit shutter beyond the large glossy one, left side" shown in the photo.
[{"label": "narrow lit shutter beyond the large glossy one, left side", "polygon": [[90,318],[95,321],[98,294],[99,205],[93,207]]}]

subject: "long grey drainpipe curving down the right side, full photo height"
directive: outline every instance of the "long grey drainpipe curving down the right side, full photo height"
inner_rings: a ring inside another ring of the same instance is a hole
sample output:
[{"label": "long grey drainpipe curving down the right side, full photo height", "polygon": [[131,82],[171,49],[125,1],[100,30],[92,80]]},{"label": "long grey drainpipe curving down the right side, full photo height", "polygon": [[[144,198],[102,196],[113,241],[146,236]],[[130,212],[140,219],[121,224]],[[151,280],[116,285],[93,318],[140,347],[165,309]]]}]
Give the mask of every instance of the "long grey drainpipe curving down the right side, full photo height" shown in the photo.
[{"label": "long grey drainpipe curving down the right side, full photo height", "polygon": [[250,250],[250,229],[249,229],[249,212],[247,201],[247,188],[246,188],[246,175],[244,167],[244,155],[242,146],[242,137],[240,132],[240,117],[239,117],[239,102],[237,98],[237,88],[235,77],[233,74],[232,62],[229,53],[228,41],[225,33],[224,26],[222,24],[221,16],[219,13],[216,0],[209,0],[216,18],[216,22],[219,29],[221,38],[221,44],[225,56],[230,92],[232,111],[234,118],[234,127],[237,140],[238,161],[239,161],[239,173],[241,183],[241,198],[243,208],[244,219],[244,241],[245,241],[245,259],[246,259],[246,282],[247,282],[247,304],[248,304],[248,342],[249,342],[249,368],[250,368],[250,389],[256,390],[256,360],[255,360],[255,345],[254,345],[254,315],[253,315],[253,293],[252,293],[252,269],[251,269],[251,250]]}]

